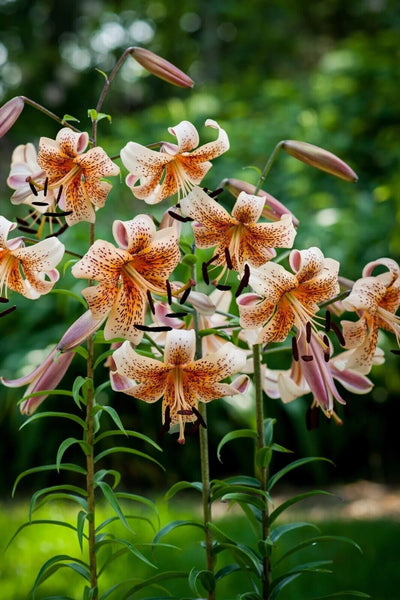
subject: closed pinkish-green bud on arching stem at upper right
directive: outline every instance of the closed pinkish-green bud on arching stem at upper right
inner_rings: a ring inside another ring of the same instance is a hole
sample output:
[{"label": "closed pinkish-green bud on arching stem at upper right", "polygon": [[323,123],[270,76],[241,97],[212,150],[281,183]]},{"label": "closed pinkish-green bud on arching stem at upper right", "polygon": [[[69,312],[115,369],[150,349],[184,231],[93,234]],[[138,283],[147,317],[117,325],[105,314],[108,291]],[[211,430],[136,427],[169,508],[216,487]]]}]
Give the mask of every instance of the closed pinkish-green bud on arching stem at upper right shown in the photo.
[{"label": "closed pinkish-green bud on arching stem at upper right", "polygon": [[290,156],[294,156],[297,160],[301,160],[301,162],[311,167],[326,171],[345,181],[352,181],[353,183],[358,181],[357,175],[349,165],[335,156],[335,154],[332,154],[332,152],[328,152],[323,148],[296,140],[285,140],[282,142],[282,148]]}]

